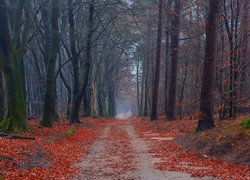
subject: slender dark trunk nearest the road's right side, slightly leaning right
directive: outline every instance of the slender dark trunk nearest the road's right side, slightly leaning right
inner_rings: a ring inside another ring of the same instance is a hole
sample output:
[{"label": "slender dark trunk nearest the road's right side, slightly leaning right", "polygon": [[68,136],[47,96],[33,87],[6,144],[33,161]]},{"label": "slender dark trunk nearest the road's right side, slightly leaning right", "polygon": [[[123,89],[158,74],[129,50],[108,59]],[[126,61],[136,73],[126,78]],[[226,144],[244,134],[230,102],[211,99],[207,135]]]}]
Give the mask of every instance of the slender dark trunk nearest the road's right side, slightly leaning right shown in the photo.
[{"label": "slender dark trunk nearest the road's right side, slightly leaning right", "polygon": [[155,78],[152,92],[152,107],[150,120],[155,121],[158,118],[158,91],[159,91],[159,80],[160,80],[160,59],[161,59],[161,37],[162,37],[162,6],[163,0],[159,1],[159,14],[158,14],[158,31],[157,31],[157,47],[156,47],[156,67],[155,67]]}]

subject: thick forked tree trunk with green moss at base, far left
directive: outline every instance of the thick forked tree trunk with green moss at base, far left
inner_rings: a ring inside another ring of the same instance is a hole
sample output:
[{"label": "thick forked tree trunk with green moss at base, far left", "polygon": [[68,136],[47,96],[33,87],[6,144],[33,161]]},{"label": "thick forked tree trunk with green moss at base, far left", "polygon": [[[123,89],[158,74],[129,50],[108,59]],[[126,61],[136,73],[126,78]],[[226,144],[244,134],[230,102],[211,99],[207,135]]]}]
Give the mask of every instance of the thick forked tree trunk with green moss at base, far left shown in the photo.
[{"label": "thick forked tree trunk with green moss at base, far left", "polygon": [[[7,109],[4,120],[0,123],[1,131],[20,132],[27,130],[26,107],[21,74],[29,27],[29,1],[17,2],[14,25],[9,26],[5,0],[0,1],[0,67],[5,80]],[[25,23],[21,18],[25,14]],[[9,28],[13,29],[10,30]],[[11,36],[12,32],[12,36]]]}]

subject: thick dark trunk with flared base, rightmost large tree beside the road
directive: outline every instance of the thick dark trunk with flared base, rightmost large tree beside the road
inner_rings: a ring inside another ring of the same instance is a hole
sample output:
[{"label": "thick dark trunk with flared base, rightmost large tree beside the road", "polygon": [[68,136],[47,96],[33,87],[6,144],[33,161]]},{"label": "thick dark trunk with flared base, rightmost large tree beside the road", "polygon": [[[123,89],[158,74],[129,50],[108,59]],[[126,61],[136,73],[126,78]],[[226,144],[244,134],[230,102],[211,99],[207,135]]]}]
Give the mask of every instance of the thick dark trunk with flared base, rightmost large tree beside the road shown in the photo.
[{"label": "thick dark trunk with flared base, rightmost large tree beside the road", "polygon": [[201,88],[200,112],[197,131],[203,131],[214,127],[213,120],[213,89],[215,71],[215,51],[217,34],[217,14],[220,0],[209,1],[209,14],[206,28],[205,60],[203,65],[203,78]]}]

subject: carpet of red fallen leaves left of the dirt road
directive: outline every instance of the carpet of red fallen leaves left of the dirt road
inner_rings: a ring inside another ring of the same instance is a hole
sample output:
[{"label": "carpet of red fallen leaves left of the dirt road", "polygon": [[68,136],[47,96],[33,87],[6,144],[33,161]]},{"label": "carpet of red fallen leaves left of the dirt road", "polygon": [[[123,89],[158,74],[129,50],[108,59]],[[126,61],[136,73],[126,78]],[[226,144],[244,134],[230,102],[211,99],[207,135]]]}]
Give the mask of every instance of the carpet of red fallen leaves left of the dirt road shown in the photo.
[{"label": "carpet of red fallen leaves left of the dirt road", "polygon": [[[87,121],[90,122],[89,119]],[[13,158],[13,162],[0,159],[0,169],[5,179],[47,179],[48,177],[67,179],[75,175],[77,168],[73,165],[87,155],[96,134],[103,126],[100,123],[95,127],[78,127],[69,125],[67,122],[56,122],[53,128],[39,128],[37,121],[31,120],[29,123],[30,132],[21,133],[21,135],[32,135],[35,140],[0,138],[1,156]],[[70,129],[75,129],[76,133],[67,137],[66,133]],[[36,156],[41,149],[46,154],[45,161],[50,162],[51,166],[23,169],[21,164],[30,157]]]}]

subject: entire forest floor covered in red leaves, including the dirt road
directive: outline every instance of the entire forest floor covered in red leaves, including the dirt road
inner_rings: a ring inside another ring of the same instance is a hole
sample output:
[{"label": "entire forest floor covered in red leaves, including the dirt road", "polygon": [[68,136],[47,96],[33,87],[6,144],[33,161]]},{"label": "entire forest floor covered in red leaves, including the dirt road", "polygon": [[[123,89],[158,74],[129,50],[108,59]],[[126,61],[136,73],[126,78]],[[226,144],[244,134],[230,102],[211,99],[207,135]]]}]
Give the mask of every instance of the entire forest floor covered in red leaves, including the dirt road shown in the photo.
[{"label": "entire forest floor covered in red leaves, including the dirt road", "polygon": [[[233,164],[232,158],[216,156],[228,154],[228,145],[207,151],[214,139],[204,137],[217,132],[217,141],[228,143],[228,134],[235,128],[195,133],[194,120],[150,123],[143,118],[85,118],[83,122],[56,122],[53,128],[39,128],[31,120],[30,131],[20,135],[35,140],[0,138],[0,179],[250,179],[249,161],[241,158]],[[237,121],[229,124],[220,127],[238,126]],[[241,130],[237,137],[244,138],[231,138],[243,149],[238,155],[249,153],[246,133]],[[197,139],[207,143],[194,148],[201,144]]]}]

